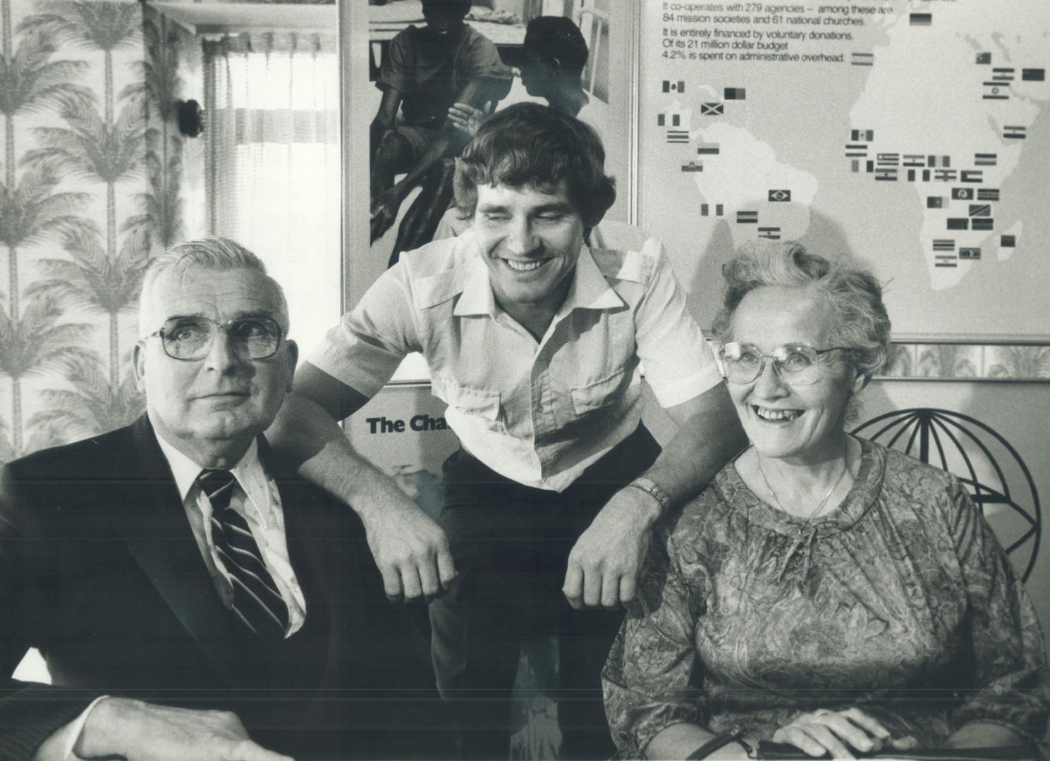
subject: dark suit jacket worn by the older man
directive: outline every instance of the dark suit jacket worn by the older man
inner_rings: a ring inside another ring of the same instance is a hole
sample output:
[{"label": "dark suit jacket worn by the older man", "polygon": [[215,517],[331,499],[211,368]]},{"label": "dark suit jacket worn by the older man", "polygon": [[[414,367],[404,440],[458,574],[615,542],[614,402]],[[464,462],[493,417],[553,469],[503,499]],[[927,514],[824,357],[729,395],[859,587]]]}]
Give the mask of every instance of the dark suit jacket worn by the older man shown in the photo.
[{"label": "dark suit jacket worn by the older man", "polygon": [[[299,758],[432,757],[426,642],[382,593],[360,522],[260,439],[307,621],[276,646],[219,601],[145,416],[0,480],[0,758],[29,758],[101,694],[233,711]],[[29,647],[54,685],[10,678]]]}]

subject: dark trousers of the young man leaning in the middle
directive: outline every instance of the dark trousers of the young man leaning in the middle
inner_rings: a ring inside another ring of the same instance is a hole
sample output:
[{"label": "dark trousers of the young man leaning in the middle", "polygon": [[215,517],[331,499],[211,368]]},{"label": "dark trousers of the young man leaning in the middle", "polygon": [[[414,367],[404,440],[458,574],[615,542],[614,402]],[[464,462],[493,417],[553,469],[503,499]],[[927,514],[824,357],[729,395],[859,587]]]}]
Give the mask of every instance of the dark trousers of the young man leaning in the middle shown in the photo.
[{"label": "dark trousers of the young man leaning in the middle", "polygon": [[537,635],[559,639],[560,757],[614,753],[601,673],[623,612],[573,610],[562,586],[580,534],[658,453],[639,425],[561,493],[522,486],[462,450],[445,462],[441,527],[459,576],[430,604],[430,651],[464,758],[508,758],[521,640]]}]

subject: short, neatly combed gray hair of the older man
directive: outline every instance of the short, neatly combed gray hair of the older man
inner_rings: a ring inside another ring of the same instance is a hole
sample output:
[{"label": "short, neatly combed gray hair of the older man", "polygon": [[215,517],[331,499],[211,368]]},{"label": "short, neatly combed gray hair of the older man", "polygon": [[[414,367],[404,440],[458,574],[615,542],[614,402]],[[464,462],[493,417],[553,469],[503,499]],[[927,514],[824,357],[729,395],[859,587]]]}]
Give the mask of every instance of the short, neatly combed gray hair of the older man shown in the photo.
[{"label": "short, neatly combed gray hair of the older man", "polygon": [[144,317],[149,315],[150,291],[153,283],[167,272],[183,273],[191,267],[218,271],[247,268],[265,275],[277,294],[277,322],[281,330],[286,334],[288,333],[288,300],[285,298],[285,291],[279,282],[267,274],[262,259],[235,240],[209,235],[196,240],[175,244],[164,253],[158,254],[149,262],[142,281],[142,293],[139,297],[139,334],[141,336],[155,329],[155,326],[144,324]]}]

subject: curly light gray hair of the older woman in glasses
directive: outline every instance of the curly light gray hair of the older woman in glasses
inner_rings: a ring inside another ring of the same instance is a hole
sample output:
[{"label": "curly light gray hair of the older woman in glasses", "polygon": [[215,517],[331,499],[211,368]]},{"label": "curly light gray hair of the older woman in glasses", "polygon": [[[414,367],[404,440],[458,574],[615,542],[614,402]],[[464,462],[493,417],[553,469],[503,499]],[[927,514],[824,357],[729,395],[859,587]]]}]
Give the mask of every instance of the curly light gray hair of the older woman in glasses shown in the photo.
[{"label": "curly light gray hair of the older woman in glasses", "polygon": [[848,361],[858,375],[870,378],[889,358],[889,316],[882,286],[852,257],[833,261],[808,253],[794,240],[754,246],[722,266],[726,296],[715,318],[714,333],[726,343],[733,332],[733,314],[751,291],[763,286],[806,288],[822,296],[832,310],[828,340],[849,346]]}]

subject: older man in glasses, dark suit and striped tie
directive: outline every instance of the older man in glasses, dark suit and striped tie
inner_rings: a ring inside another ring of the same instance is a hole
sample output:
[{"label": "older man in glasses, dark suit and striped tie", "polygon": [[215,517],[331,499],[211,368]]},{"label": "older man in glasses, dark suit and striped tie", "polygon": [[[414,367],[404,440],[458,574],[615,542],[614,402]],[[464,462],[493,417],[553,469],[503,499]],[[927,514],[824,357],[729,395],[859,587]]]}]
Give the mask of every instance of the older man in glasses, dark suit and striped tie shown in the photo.
[{"label": "older man in glasses, dark suit and striped tie", "polygon": [[[288,327],[254,254],[176,246],[143,286],[146,414],[4,468],[0,758],[439,753],[425,642],[360,522],[261,436],[292,385]],[[52,684],[12,678],[29,647]]]}]

